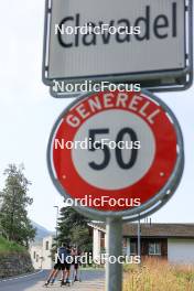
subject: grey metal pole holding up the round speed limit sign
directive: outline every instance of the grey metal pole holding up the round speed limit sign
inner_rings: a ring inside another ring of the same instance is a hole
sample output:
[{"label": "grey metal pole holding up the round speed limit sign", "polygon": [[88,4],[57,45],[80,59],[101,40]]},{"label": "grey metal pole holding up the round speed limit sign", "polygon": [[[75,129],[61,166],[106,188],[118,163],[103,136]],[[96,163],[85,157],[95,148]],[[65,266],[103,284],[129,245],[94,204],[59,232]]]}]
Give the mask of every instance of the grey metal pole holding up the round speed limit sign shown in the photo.
[{"label": "grey metal pole holding up the round speed limit sign", "polygon": [[[122,222],[121,218],[107,218],[107,247],[109,259],[122,255]],[[106,291],[122,290],[122,265],[106,263]]]}]

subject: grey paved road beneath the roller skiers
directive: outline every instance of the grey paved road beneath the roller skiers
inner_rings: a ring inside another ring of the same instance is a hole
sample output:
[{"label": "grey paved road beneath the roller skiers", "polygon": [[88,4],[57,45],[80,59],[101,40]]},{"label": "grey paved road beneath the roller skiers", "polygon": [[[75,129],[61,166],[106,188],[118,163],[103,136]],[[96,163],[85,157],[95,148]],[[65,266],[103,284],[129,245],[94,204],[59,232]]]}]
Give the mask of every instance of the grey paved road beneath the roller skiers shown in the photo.
[{"label": "grey paved road beneath the roller skiers", "polygon": [[[41,271],[35,274],[13,278],[6,281],[0,281],[0,291],[45,291],[43,287],[48,271]],[[82,282],[76,282],[69,287],[69,291],[104,291],[105,272],[98,270],[89,270],[82,272]],[[64,287],[65,289],[67,287]],[[57,281],[53,287],[47,288],[48,291],[61,291],[60,282]]]}]

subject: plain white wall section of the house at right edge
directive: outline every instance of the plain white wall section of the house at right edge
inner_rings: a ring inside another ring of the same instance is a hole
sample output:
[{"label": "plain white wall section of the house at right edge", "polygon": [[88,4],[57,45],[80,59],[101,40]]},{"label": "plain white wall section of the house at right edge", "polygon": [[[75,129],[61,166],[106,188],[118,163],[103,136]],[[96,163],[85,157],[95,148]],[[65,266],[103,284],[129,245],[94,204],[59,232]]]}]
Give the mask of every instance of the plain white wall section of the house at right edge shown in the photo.
[{"label": "plain white wall section of the house at right edge", "polygon": [[168,259],[176,263],[194,263],[194,239],[168,239]]}]

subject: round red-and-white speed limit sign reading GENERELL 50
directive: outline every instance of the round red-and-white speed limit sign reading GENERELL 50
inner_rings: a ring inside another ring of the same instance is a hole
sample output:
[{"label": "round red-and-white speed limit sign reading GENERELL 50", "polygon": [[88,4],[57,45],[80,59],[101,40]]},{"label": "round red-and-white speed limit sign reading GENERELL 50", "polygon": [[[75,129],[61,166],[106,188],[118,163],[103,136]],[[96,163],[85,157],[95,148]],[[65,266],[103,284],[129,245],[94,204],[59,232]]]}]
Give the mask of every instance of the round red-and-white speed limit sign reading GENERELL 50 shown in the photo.
[{"label": "round red-and-white speed limit sign reading GENERELL 50", "polygon": [[148,91],[88,94],[54,125],[47,162],[61,194],[82,213],[132,220],[174,193],[183,139],[172,111]]}]

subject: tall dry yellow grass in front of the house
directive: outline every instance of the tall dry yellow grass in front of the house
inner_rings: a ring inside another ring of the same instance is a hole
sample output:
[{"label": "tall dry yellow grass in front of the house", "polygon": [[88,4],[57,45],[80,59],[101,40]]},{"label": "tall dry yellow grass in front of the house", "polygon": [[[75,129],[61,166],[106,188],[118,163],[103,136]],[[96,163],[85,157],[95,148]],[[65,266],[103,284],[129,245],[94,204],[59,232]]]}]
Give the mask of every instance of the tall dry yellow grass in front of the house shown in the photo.
[{"label": "tall dry yellow grass in front of the house", "polygon": [[147,259],[125,266],[123,291],[194,291],[194,266]]}]

